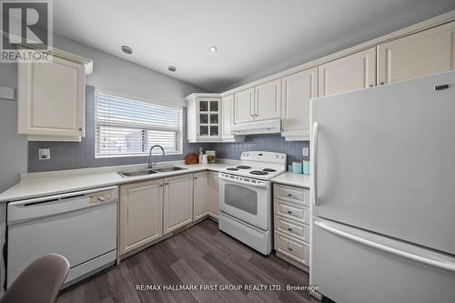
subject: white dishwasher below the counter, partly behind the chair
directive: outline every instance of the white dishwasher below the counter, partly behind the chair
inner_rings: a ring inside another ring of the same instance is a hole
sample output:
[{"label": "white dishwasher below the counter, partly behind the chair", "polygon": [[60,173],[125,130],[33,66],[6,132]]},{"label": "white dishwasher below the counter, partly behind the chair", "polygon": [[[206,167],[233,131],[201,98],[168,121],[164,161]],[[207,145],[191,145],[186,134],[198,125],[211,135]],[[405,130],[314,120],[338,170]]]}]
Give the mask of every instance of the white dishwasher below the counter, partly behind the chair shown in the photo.
[{"label": "white dishwasher below the counter, partly behind the chair", "polygon": [[7,286],[48,253],[69,261],[64,288],[115,264],[116,203],[117,187],[8,203]]}]

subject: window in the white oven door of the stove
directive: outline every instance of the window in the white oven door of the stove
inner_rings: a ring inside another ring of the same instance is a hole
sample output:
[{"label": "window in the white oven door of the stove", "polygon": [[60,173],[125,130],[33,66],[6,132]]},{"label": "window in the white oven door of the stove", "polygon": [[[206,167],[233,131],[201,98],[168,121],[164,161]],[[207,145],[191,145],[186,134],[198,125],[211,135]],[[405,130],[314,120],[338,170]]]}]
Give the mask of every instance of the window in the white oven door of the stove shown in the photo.
[{"label": "window in the white oven door of the stove", "polygon": [[234,184],[225,186],[225,204],[252,215],[258,215],[258,193],[248,187]]}]

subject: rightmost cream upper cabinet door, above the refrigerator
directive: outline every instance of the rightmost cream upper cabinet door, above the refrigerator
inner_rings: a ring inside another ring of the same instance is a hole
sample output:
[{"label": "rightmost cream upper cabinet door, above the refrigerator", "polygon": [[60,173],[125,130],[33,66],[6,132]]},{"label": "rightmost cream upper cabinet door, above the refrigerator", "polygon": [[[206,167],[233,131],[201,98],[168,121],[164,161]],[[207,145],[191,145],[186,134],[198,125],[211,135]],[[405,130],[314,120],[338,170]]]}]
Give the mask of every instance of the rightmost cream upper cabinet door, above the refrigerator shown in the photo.
[{"label": "rightmost cream upper cabinet door, above the refrigerator", "polygon": [[455,22],[378,46],[378,82],[392,83],[455,68]]}]

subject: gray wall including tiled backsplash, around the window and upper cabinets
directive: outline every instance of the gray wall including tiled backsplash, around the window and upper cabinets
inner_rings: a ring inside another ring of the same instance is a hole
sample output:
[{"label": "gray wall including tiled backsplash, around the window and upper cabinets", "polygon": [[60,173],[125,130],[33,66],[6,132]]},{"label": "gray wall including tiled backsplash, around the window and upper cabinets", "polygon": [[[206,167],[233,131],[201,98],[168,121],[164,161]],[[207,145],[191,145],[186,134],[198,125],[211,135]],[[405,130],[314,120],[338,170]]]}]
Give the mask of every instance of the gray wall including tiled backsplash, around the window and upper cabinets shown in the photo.
[{"label": "gray wall including tiled backsplash, around the window and upper cabinets", "polygon": [[[0,100],[0,191],[15,185],[20,173],[71,169],[82,167],[104,167],[145,163],[147,157],[95,158],[94,147],[94,89],[101,88],[118,93],[140,96],[153,102],[185,106],[184,96],[201,89],[190,86],[156,71],[138,66],[116,56],[111,56],[86,45],[56,36],[58,48],[94,60],[94,73],[86,82],[86,138],[81,143],[71,142],[27,142],[25,136],[16,133],[16,102]],[[16,66],[0,65],[0,86],[16,87]],[[184,110],[184,127],[186,128]],[[166,160],[182,159],[188,152],[197,152],[199,146],[216,149],[218,157],[239,159],[244,150],[278,151],[288,154],[288,162],[303,159],[302,148],[308,142],[285,142],[274,136],[248,136],[244,143],[188,144],[184,128],[183,155],[168,156]],[[51,148],[50,160],[38,160],[39,147]],[[155,161],[163,158],[154,157]],[[28,164],[27,164],[28,162]]]}]

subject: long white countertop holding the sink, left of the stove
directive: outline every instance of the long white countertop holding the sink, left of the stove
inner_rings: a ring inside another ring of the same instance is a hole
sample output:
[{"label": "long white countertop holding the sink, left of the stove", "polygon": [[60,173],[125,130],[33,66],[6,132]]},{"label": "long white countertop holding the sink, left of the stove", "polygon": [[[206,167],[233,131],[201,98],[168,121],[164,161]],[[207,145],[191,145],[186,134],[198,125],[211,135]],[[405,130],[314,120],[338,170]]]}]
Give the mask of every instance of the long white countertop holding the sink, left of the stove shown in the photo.
[{"label": "long white countertop holding the sink, left of the stove", "polygon": [[33,197],[45,197],[96,187],[109,187],[162,177],[190,174],[205,170],[219,171],[220,169],[226,167],[232,167],[233,163],[238,163],[238,161],[226,160],[226,162],[203,165],[185,165],[182,164],[182,162],[167,162],[164,163],[164,165],[161,165],[160,163],[157,165],[157,167],[166,167],[173,165],[177,167],[185,167],[187,169],[128,178],[121,177],[116,172],[146,168],[147,165],[83,168],[24,174],[21,175],[20,183],[16,184],[14,187],[10,187],[0,194],[0,203]]}]

